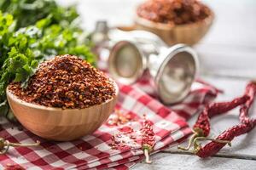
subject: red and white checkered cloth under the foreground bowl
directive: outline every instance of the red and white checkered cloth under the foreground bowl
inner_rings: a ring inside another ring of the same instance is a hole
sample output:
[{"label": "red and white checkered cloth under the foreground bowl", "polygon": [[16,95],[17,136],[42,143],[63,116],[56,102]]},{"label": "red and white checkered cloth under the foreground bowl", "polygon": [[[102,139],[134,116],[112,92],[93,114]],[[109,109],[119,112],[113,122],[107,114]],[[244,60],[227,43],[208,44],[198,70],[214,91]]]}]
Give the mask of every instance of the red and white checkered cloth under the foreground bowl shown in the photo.
[{"label": "red and white checkered cloth under the foreground bowl", "polygon": [[[143,90],[142,90],[143,89]],[[154,99],[154,88],[147,80],[133,86],[119,84],[117,108],[124,114],[129,113],[137,119],[143,114],[154,123],[156,144],[154,152],[172,146],[191,133],[186,119],[194,115],[218,94],[218,90],[202,82],[195,82],[189,96],[182,103],[166,107]],[[146,91],[148,94],[144,93]],[[15,125],[1,118],[0,137],[10,142],[33,143],[41,141],[37,147],[11,148],[6,155],[0,156],[0,169],[19,164],[26,169],[127,169],[143,159],[140,147],[113,150],[109,144],[119,127],[102,125],[95,133],[72,142],[52,142],[39,138],[26,129],[18,130]],[[139,121],[131,122],[134,129],[142,125]]]}]

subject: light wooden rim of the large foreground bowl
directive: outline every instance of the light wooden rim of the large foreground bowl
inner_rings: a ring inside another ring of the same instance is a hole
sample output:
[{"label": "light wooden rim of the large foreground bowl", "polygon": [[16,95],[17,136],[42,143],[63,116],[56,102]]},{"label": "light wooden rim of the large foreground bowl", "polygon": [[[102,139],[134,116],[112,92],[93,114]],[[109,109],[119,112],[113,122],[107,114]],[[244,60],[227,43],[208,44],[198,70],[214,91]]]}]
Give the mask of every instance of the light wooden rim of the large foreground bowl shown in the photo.
[{"label": "light wooden rim of the large foreground bowl", "polygon": [[30,107],[32,109],[38,109],[38,110],[44,110],[44,111],[83,111],[83,110],[87,110],[87,109],[97,107],[97,106],[100,106],[100,105],[106,105],[109,102],[113,101],[113,99],[118,97],[119,87],[118,87],[117,83],[113,81],[112,78],[109,77],[109,79],[113,82],[113,87],[115,88],[115,95],[113,95],[113,97],[111,99],[106,100],[102,104],[91,105],[90,107],[85,107],[83,109],[77,109],[77,108],[75,108],[75,109],[62,109],[62,108],[58,108],[58,107],[49,107],[49,106],[45,106],[45,105],[38,105],[38,104],[29,103],[29,102],[26,102],[23,99],[19,99],[15,94],[11,93],[11,91],[9,90],[9,86],[6,88],[6,96],[7,96],[8,100],[12,99],[16,103],[19,103],[20,105],[25,105],[26,107]]}]

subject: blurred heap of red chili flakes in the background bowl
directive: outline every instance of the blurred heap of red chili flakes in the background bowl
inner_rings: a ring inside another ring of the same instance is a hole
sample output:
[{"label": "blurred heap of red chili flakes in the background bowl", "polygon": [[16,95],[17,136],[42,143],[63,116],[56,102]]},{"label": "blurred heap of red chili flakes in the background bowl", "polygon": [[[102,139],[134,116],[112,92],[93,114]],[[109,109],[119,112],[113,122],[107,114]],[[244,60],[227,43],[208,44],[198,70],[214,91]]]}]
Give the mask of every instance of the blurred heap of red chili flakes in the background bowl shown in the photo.
[{"label": "blurred heap of red chili flakes in the background bowl", "polygon": [[183,25],[206,19],[211,10],[198,0],[148,0],[137,8],[138,16],[170,25]]}]

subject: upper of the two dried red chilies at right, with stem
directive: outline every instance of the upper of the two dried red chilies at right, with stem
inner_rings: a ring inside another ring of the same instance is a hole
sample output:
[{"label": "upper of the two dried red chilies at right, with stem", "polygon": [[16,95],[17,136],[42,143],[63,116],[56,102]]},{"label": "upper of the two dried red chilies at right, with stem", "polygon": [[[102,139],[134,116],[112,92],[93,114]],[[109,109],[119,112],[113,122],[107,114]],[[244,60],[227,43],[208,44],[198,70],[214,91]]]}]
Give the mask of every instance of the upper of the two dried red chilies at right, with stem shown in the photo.
[{"label": "upper of the two dried red chilies at right, with stem", "polygon": [[229,143],[229,141],[220,141],[218,139],[207,138],[211,129],[210,118],[212,118],[213,116],[224,114],[227,111],[236,108],[238,105],[244,104],[247,101],[247,99],[247,95],[243,95],[239,98],[233,99],[230,102],[218,102],[207,105],[204,111],[202,111],[201,114],[198,116],[197,121],[195,122],[195,125],[193,127],[194,134],[189,139],[189,145],[186,148],[182,146],[178,146],[178,148],[181,150],[189,150],[195,139],[208,139],[218,143]]}]

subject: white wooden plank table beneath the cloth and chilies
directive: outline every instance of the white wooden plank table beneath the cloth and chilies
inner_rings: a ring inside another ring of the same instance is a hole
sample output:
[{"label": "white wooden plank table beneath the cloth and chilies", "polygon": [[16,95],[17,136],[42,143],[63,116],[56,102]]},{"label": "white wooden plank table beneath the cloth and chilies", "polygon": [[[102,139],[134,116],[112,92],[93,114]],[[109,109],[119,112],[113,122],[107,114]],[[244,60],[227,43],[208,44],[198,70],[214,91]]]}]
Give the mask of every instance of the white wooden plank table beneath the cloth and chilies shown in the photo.
[{"label": "white wooden plank table beneath the cloth and chilies", "polygon": [[[94,28],[96,20],[108,20],[111,26],[132,23],[134,9],[142,0],[59,0],[79,3],[83,26]],[[211,31],[195,49],[200,54],[201,76],[224,94],[218,101],[242,94],[249,78],[256,78],[256,1],[206,0],[216,14]],[[254,110],[254,113],[256,110]],[[212,135],[238,122],[238,111],[212,120]],[[256,113],[255,113],[256,115]],[[255,116],[254,115],[254,116]],[[189,123],[192,125],[195,117]],[[133,169],[256,169],[256,130],[224,147],[217,156],[202,160],[197,156],[168,149],[152,157],[153,164],[138,163]]]}]

